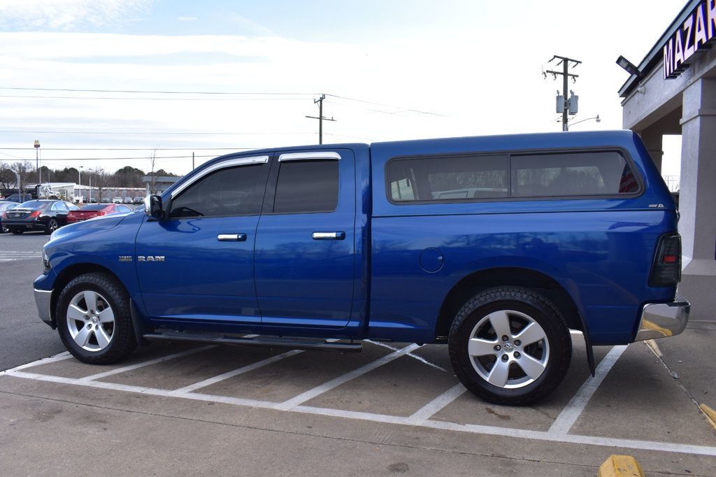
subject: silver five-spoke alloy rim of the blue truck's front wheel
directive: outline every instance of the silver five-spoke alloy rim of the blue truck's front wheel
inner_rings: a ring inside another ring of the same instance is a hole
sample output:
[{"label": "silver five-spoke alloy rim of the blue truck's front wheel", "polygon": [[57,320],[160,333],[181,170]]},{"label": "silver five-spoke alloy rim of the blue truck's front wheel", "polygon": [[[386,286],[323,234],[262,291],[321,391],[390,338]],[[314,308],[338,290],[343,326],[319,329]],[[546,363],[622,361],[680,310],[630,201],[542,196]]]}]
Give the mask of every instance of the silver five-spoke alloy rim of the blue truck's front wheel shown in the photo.
[{"label": "silver five-spoke alloy rim of the blue truck's front wheel", "polygon": [[115,334],[115,314],[110,302],[97,291],[80,291],[67,306],[67,329],[83,350],[104,350]]}]

